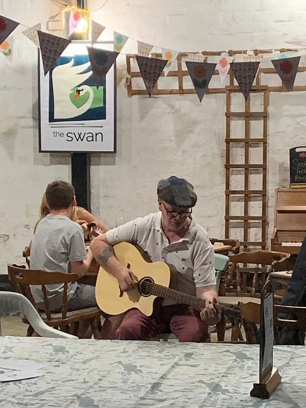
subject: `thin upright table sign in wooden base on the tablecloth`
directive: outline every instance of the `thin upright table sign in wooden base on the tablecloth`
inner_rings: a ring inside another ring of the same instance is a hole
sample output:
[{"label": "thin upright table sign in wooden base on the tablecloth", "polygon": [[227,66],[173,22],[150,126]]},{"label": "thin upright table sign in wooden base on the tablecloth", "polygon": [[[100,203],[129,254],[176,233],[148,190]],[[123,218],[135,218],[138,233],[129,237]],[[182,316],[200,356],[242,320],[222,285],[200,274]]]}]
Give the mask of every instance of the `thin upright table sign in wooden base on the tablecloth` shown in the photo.
[{"label": "thin upright table sign in wooden base on the tablecloth", "polygon": [[251,397],[270,398],[282,380],[277,368],[273,368],[273,290],[276,286],[276,281],[268,281],[261,293],[259,380],[253,384]]}]

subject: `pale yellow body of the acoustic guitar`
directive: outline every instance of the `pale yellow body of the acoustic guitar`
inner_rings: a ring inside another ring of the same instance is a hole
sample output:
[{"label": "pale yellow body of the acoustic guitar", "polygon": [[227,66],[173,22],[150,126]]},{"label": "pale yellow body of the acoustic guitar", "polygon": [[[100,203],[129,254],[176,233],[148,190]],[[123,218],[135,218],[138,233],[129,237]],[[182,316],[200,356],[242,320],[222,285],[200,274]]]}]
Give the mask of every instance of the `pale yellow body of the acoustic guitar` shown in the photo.
[{"label": "pale yellow body of the acoustic guitar", "polygon": [[[138,281],[141,282],[141,279],[148,277],[157,285],[169,287],[171,272],[166,263],[146,262],[139,250],[128,242],[114,245],[113,249],[116,258],[122,265],[130,265],[129,269],[137,276]],[[129,292],[122,292],[117,279],[101,266],[97,277],[95,296],[98,307],[109,315],[119,315],[137,308],[146,316],[152,314],[153,303],[157,297],[141,294],[137,286]]]}]

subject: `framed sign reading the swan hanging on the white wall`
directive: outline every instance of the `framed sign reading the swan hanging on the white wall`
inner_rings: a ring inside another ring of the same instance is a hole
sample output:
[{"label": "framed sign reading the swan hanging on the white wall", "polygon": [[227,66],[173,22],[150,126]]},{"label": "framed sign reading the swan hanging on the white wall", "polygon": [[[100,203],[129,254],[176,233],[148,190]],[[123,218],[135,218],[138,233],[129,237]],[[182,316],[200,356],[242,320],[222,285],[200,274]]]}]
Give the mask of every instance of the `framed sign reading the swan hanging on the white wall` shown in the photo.
[{"label": "framed sign reading the swan hanging on the white wall", "polygon": [[86,45],[70,43],[45,76],[38,54],[40,152],[116,152],[116,63],[96,87]]}]

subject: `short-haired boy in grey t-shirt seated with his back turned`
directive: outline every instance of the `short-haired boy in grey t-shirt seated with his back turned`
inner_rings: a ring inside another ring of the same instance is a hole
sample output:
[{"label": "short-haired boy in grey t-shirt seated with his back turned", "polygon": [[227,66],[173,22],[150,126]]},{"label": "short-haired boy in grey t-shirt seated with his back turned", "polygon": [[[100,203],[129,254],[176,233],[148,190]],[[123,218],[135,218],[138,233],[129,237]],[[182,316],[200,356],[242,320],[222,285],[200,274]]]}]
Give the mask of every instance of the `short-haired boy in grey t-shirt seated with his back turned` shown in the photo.
[{"label": "short-haired boy in grey t-shirt seated with his back turned", "polygon": [[[37,225],[31,245],[31,269],[47,272],[77,273],[87,271],[93,257],[86,253],[82,227],[71,220],[75,192],[71,184],[54,181],[46,188],[46,200],[50,213]],[[40,286],[31,287],[39,309],[44,308]],[[62,306],[63,285],[48,285],[47,296],[51,311]],[[68,310],[96,307],[95,288],[79,282],[68,284]]]}]

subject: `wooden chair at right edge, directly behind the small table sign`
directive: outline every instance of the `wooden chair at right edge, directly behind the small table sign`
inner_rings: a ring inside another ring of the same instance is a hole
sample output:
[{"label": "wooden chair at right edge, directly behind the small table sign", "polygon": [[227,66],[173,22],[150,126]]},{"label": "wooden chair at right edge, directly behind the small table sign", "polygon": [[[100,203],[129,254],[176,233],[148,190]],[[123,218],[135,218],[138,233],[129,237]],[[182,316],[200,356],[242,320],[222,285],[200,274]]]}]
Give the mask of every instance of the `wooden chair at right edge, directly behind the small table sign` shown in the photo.
[{"label": "wooden chair at right edge, directly behind the small table sign", "polygon": [[[260,324],[260,304],[254,302],[240,303],[241,317],[247,322]],[[292,315],[291,319],[283,319],[280,313]],[[274,326],[274,343],[278,344],[277,327],[291,327],[299,330],[300,344],[304,345],[306,330],[306,308],[298,306],[283,306],[273,304],[273,326]],[[246,333],[247,343],[254,343],[256,334]],[[259,339],[257,338],[257,343]]]}]

